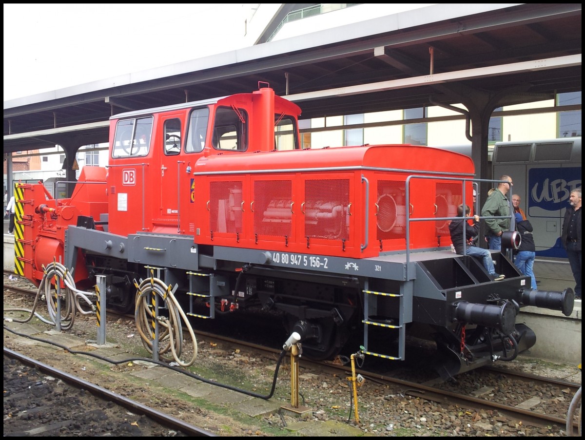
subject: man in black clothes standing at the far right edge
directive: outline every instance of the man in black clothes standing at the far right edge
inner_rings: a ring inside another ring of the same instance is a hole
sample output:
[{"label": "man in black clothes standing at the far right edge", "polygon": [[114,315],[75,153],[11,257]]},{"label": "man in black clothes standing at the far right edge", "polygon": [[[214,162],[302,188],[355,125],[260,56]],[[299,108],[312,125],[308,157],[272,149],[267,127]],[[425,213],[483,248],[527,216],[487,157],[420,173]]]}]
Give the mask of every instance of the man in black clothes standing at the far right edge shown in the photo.
[{"label": "man in black clothes standing at the far right edge", "polygon": [[575,279],[575,298],[581,299],[581,188],[571,191],[560,239],[567,251]]}]

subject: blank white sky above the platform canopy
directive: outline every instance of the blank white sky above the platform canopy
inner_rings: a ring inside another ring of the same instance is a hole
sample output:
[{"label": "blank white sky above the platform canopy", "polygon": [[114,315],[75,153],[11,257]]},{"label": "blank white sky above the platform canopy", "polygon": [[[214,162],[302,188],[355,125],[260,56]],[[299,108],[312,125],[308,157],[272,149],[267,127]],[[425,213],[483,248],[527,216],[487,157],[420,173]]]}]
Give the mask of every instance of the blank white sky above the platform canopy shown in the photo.
[{"label": "blank white sky above the platform canopy", "polygon": [[4,101],[245,46],[252,4],[4,4]]}]

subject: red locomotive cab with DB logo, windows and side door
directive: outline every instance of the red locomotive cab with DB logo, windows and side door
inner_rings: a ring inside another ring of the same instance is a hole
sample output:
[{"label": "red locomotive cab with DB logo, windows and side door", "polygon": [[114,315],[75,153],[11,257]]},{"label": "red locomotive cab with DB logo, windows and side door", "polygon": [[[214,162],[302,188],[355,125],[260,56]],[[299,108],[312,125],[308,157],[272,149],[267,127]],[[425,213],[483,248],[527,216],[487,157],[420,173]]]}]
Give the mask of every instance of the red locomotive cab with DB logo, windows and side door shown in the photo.
[{"label": "red locomotive cab with DB logo, windows and side door", "polygon": [[195,164],[209,156],[299,149],[298,115],[297,105],[261,88],[112,116],[109,231],[193,235]]}]

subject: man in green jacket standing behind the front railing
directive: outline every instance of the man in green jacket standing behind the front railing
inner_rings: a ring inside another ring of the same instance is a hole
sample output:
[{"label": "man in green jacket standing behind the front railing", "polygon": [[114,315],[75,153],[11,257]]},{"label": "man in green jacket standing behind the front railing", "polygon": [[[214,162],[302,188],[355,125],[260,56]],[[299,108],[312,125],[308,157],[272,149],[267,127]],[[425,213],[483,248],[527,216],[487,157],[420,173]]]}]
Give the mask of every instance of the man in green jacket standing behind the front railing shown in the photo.
[{"label": "man in green jacket standing behind the front railing", "polygon": [[[506,197],[512,188],[512,178],[510,176],[501,176],[500,180],[505,180],[498,184],[495,191],[488,195],[486,202],[481,208],[482,217],[501,217],[510,215],[510,201]],[[504,231],[510,230],[509,218],[488,218],[487,225],[487,240],[490,243],[490,249],[501,250],[502,248],[502,234]]]}]

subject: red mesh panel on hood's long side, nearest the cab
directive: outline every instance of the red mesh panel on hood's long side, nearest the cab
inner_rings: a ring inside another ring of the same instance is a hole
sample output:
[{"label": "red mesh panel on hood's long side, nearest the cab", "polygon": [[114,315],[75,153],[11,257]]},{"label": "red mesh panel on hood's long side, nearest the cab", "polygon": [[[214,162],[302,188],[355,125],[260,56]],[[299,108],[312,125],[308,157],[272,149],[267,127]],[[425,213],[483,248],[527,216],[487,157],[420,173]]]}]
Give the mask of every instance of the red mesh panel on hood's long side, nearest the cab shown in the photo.
[{"label": "red mesh panel on hood's long side, nearest the cab", "polygon": [[242,233],[242,182],[209,184],[209,229],[211,232]]}]

